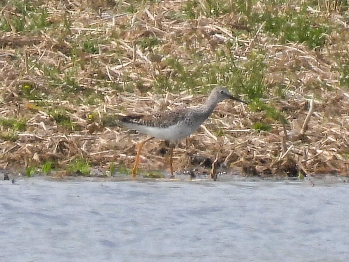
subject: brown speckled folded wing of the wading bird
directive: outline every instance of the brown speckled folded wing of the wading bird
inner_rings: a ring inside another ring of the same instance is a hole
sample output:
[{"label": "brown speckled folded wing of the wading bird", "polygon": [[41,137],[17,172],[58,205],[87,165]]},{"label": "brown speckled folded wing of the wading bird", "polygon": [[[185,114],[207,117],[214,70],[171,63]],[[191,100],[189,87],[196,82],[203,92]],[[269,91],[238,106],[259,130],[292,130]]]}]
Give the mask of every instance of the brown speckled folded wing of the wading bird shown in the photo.
[{"label": "brown speckled folded wing of the wading bird", "polygon": [[120,124],[138,124],[166,128],[185,120],[188,109],[165,111],[154,115],[129,115],[119,119]]}]

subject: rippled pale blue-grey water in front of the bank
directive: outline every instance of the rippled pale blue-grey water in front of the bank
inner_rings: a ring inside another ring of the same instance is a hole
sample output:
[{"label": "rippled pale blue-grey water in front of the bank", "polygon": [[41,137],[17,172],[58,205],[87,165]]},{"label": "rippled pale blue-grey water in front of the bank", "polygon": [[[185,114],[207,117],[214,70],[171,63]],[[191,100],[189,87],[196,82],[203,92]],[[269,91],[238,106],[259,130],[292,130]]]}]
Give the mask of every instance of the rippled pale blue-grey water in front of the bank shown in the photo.
[{"label": "rippled pale blue-grey water in front of the bank", "polygon": [[348,261],[348,195],[326,181],[1,181],[0,261]]}]

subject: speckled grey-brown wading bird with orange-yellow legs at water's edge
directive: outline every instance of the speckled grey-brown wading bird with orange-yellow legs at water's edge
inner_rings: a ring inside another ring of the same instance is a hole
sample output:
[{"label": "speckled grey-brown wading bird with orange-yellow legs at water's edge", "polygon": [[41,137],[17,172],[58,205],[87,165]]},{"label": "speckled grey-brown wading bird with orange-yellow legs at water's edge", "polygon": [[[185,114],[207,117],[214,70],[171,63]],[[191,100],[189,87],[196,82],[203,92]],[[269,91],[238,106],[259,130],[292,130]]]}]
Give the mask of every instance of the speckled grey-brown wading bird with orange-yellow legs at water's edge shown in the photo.
[{"label": "speckled grey-brown wading bird with orange-yellow legs at water's edge", "polygon": [[138,145],[136,159],[131,171],[132,177],[136,175],[136,168],[143,144],[152,138],[169,140],[172,142],[170,146],[170,172],[171,177],[173,177],[172,156],[174,143],[182,138],[190,136],[191,133],[196,131],[203,121],[212,114],[217,103],[224,99],[232,99],[246,103],[229,94],[226,88],[219,86],[212,90],[205,104],[196,108],[164,111],[153,115],[129,115],[121,117],[118,121],[119,125],[150,136],[150,138],[142,141]]}]

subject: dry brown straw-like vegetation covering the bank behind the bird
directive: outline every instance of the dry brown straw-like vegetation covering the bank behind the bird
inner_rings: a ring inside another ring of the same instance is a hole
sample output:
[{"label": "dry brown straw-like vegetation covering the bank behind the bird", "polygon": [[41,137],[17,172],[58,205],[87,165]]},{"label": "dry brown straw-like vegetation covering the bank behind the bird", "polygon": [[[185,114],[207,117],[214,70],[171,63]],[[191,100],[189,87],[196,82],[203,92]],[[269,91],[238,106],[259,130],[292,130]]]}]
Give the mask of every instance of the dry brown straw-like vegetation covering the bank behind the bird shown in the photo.
[{"label": "dry brown straw-like vegetation covering the bank behind the bird", "polygon": [[[144,136],[111,128],[111,118],[193,106],[220,84],[250,105],[220,103],[180,141],[176,170],[201,174],[214,163],[262,177],[349,174],[344,3],[278,6],[294,16],[305,6],[312,28],[331,28],[299,42],[267,31],[267,20],[252,25],[268,1],[28,2],[0,1],[0,117],[26,119],[25,129],[0,125],[1,167],[52,163],[47,170],[63,174],[84,159],[127,170]],[[162,141],[147,144],[140,169],[167,168],[167,150]]]}]

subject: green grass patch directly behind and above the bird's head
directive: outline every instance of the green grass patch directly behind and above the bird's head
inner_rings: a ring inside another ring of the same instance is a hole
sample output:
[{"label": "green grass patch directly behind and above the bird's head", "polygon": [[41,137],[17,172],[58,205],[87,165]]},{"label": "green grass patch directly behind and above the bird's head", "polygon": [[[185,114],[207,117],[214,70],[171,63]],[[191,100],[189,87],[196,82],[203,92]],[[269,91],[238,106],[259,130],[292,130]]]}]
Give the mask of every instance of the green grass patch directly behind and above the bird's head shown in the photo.
[{"label": "green grass patch directly behind and above the bird's head", "polygon": [[[230,47],[228,46],[229,50]],[[264,54],[253,51],[246,60],[236,60],[232,51],[227,54],[219,51],[220,57],[213,63],[201,65],[200,61],[193,64],[184,64],[178,58],[169,57],[164,64],[172,68],[173,73],[168,75],[157,75],[154,89],[179,92],[182,90],[196,90],[209,93],[210,85],[223,85],[232,89],[233,93],[246,94],[249,99],[266,96],[268,87],[264,84],[266,65]],[[195,60],[194,60],[195,61]]]}]

